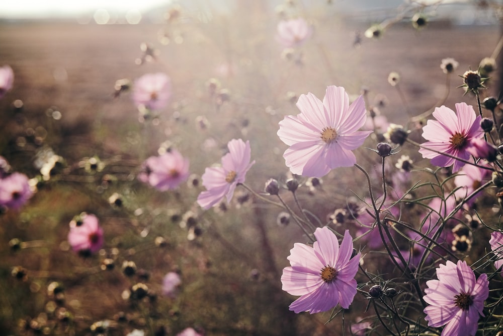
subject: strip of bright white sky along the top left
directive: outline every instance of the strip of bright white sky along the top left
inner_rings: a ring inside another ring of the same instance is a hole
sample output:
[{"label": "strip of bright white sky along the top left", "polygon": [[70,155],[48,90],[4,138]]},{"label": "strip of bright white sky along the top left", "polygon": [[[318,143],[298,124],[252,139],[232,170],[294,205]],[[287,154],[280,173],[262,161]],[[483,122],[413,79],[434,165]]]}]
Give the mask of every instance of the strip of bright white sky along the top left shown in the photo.
[{"label": "strip of bright white sky along the top left", "polygon": [[99,9],[141,13],[171,2],[171,0],[4,0],[0,5],[0,18],[71,17]]}]

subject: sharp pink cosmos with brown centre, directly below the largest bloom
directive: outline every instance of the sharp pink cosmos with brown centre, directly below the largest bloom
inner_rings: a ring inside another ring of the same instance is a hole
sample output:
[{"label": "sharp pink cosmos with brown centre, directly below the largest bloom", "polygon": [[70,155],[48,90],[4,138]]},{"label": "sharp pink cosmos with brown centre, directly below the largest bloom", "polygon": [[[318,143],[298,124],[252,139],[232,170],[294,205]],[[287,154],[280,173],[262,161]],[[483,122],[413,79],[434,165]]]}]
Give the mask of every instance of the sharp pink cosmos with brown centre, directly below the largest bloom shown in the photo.
[{"label": "sharp pink cosmos with brown centre, directly below the largest bloom", "polygon": [[356,294],[355,275],[358,272],[360,253],[353,253],[353,238],[346,230],[339,246],[336,235],[327,227],[314,232],[313,247],[295,243],[290,250],[291,266],[283,268],[283,290],[300,295],[292,302],[295,313],[318,313],[338,304],[347,309]]}]

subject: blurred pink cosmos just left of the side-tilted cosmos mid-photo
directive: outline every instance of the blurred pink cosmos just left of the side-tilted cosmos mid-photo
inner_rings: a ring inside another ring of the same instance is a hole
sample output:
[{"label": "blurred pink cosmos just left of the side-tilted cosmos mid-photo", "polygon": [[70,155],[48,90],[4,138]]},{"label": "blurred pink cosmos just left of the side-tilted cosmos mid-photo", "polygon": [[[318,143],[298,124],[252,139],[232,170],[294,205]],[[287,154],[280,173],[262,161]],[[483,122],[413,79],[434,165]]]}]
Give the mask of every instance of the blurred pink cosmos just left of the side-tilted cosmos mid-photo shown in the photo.
[{"label": "blurred pink cosmos just left of the side-tilted cosmos mid-photo", "polygon": [[138,179],[160,191],[175,189],[189,177],[189,160],[172,150],[145,160]]}]

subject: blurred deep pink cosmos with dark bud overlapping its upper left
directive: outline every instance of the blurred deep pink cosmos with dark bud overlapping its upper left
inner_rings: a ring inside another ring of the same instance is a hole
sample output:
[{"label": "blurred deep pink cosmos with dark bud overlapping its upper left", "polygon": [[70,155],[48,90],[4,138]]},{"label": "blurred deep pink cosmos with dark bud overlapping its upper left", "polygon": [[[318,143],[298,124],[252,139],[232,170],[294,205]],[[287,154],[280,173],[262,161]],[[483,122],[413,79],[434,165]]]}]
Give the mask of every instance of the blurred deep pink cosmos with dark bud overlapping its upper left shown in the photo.
[{"label": "blurred deep pink cosmos with dark bud overlapping its upper left", "polygon": [[95,215],[82,213],[70,222],[68,243],[77,252],[97,252],[103,245],[103,229]]}]

